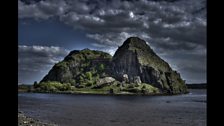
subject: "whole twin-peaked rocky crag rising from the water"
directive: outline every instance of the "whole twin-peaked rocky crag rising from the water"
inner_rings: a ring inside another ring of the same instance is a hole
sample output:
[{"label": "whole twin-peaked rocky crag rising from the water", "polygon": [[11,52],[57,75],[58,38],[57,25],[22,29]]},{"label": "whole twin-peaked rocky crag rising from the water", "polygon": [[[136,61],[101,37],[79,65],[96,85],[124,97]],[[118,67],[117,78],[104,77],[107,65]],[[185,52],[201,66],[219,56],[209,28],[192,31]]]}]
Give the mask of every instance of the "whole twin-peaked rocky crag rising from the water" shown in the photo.
[{"label": "whole twin-peaked rocky crag rising from the water", "polygon": [[187,87],[146,42],[128,38],[112,57],[96,50],[74,50],[55,64],[41,84],[58,82],[74,89],[104,90],[109,93],[180,94]]}]

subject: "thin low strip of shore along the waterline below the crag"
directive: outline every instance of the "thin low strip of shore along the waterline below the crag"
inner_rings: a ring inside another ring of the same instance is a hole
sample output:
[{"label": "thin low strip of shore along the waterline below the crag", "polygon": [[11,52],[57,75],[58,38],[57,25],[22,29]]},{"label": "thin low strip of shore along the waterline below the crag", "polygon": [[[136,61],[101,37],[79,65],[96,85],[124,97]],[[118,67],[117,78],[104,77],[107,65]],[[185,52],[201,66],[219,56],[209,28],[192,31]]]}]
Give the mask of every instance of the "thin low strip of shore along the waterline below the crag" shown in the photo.
[{"label": "thin low strip of shore along the waterline below the crag", "polygon": [[75,94],[75,95],[105,95],[105,96],[172,96],[172,95],[181,95],[181,94],[187,94],[189,91],[185,92],[176,92],[176,93],[170,93],[170,92],[162,92],[162,91],[151,91],[151,92],[144,92],[144,90],[141,90],[139,88],[133,88],[136,89],[134,91],[126,91],[126,90],[99,90],[99,89],[89,89],[89,88],[72,88],[70,90],[64,90],[64,91],[51,91],[51,90],[36,90],[33,85],[18,85],[18,92],[19,93],[50,93],[50,94]]}]

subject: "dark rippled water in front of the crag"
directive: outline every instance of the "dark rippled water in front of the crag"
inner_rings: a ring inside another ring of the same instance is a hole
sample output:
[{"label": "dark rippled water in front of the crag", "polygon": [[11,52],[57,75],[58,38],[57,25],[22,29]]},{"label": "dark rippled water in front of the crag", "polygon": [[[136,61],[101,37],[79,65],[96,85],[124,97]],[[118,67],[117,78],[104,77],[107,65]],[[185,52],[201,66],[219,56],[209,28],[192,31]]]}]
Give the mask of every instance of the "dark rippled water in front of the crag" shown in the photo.
[{"label": "dark rippled water in front of the crag", "polygon": [[18,109],[59,126],[206,126],[206,90],[176,96],[19,93]]}]

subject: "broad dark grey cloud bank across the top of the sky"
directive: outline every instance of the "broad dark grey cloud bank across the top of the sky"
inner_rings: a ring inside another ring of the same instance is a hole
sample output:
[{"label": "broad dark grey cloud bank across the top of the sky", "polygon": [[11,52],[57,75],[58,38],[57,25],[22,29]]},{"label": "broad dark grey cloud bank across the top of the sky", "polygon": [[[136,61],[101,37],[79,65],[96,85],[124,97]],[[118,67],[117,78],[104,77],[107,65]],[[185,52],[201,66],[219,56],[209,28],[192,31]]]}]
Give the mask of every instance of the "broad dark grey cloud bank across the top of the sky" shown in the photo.
[{"label": "broad dark grey cloud bank across the top of the sky", "polygon": [[[116,41],[116,38],[107,38],[108,34],[122,37],[121,33],[125,32],[146,34],[143,39],[151,38],[150,43],[156,42],[154,39],[169,37],[174,41],[205,46],[205,7],[204,0],[45,0],[34,4],[19,1],[19,17],[56,17],[89,34],[98,33],[101,38],[113,41],[114,45],[122,42]],[[182,46],[187,45],[184,43]],[[104,44],[107,45],[107,41]],[[108,45],[111,46],[110,43]]]}]

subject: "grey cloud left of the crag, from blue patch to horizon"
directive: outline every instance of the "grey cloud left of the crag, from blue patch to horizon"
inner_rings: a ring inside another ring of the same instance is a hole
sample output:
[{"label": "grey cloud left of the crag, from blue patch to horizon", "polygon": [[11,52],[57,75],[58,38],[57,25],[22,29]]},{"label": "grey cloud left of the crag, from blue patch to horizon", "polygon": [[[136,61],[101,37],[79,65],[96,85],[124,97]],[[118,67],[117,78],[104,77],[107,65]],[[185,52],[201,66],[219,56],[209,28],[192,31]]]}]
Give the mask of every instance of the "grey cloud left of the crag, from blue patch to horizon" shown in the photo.
[{"label": "grey cloud left of the crag, from blue patch to horizon", "polygon": [[34,79],[41,79],[43,74],[46,74],[55,63],[62,60],[68,54],[67,50],[54,46],[19,45],[18,50],[19,81],[28,81],[37,75],[39,75],[39,78]]}]

